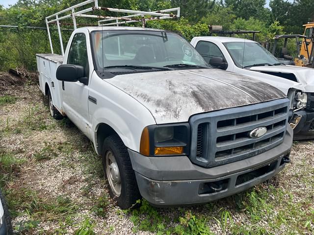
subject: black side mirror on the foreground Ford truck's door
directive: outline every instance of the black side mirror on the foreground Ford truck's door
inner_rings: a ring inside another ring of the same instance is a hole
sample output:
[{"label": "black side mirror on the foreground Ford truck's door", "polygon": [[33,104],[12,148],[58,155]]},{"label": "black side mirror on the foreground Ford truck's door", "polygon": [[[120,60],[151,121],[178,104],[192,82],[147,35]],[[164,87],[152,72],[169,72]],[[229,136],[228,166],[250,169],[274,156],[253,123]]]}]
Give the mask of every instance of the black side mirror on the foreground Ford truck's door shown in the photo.
[{"label": "black side mirror on the foreground Ford truck's door", "polygon": [[56,72],[56,78],[64,82],[77,82],[83,77],[85,71],[80,65],[60,65]]}]

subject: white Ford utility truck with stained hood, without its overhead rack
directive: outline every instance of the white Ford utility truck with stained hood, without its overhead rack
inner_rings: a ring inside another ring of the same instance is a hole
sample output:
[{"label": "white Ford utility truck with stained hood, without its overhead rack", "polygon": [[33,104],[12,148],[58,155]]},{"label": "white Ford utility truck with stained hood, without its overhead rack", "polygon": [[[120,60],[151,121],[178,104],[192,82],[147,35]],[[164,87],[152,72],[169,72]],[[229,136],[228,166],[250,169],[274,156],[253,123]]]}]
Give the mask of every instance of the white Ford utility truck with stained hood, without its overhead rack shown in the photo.
[{"label": "white Ford utility truck with stained hood, without its overhead rack", "polygon": [[53,118],[70,118],[103,158],[111,196],[130,208],[205,203],[285,167],[289,100],[277,88],[211,69],[183,37],[82,27],[64,57],[37,54]]}]

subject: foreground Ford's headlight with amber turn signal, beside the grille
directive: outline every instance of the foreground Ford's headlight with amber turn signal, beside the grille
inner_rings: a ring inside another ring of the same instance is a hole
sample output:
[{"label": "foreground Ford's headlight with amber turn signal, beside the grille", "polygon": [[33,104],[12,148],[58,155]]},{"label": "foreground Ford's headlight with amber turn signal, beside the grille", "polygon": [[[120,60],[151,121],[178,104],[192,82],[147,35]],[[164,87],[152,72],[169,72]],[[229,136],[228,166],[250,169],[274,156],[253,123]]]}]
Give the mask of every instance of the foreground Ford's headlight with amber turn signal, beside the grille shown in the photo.
[{"label": "foreground Ford's headlight with amber turn signal, beside the grille", "polygon": [[188,123],[147,126],[142,132],[140,153],[145,156],[187,155],[189,133]]}]

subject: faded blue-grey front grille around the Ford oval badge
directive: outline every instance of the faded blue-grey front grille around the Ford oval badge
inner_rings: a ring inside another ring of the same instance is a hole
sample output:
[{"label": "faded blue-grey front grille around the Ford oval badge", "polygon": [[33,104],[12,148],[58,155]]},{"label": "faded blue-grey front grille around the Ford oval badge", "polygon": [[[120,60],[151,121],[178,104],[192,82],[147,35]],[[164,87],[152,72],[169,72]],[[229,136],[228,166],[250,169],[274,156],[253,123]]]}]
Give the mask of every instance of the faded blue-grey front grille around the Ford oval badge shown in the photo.
[{"label": "faded blue-grey front grille around the Ford oval badge", "polygon": [[[288,99],[230,108],[190,118],[190,159],[205,167],[253,157],[283,142],[288,121]],[[266,127],[260,138],[249,132]]]}]

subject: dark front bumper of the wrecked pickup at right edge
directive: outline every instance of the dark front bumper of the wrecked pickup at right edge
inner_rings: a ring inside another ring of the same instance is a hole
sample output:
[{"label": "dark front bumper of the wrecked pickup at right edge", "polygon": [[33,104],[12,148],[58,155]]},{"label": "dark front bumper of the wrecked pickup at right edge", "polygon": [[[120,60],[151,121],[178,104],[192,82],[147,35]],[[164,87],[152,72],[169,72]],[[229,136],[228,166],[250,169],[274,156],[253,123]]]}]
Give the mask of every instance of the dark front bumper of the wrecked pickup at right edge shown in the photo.
[{"label": "dark front bumper of the wrecked pickup at right edge", "polygon": [[293,130],[293,140],[314,139],[314,112],[299,110],[295,114],[302,118]]}]

